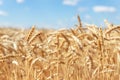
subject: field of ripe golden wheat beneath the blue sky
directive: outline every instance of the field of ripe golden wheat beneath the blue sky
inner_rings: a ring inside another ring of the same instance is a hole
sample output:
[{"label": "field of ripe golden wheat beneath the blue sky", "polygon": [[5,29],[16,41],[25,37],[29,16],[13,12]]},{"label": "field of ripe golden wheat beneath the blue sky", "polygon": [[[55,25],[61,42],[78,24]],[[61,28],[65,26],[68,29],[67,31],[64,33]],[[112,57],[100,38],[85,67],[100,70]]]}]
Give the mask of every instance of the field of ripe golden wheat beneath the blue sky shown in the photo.
[{"label": "field of ripe golden wheat beneath the blue sky", "polygon": [[120,80],[120,26],[0,28],[0,80]]}]

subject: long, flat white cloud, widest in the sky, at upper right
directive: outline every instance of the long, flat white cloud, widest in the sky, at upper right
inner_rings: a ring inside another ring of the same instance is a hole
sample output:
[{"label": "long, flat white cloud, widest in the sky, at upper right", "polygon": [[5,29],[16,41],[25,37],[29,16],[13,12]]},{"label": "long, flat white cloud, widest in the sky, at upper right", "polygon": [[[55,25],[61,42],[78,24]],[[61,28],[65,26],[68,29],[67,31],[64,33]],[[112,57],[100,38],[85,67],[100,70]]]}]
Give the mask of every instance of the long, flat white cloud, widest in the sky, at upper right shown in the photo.
[{"label": "long, flat white cloud, widest in the sky, at upper right", "polygon": [[112,6],[94,6],[94,12],[115,12],[116,8]]}]

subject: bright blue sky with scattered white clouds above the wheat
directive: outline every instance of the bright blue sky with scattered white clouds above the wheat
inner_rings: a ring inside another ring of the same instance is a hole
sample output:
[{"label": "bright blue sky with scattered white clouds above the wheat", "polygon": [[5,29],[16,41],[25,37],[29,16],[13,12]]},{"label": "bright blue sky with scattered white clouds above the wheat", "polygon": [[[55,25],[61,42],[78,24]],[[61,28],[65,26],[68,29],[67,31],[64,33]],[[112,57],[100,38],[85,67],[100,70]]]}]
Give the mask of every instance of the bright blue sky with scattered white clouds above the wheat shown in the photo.
[{"label": "bright blue sky with scattered white clouds above the wheat", "polygon": [[120,24],[120,0],[0,0],[0,26],[71,28],[82,23]]}]

